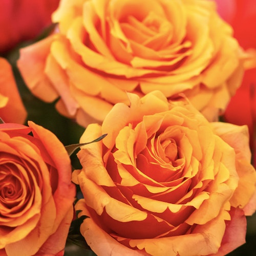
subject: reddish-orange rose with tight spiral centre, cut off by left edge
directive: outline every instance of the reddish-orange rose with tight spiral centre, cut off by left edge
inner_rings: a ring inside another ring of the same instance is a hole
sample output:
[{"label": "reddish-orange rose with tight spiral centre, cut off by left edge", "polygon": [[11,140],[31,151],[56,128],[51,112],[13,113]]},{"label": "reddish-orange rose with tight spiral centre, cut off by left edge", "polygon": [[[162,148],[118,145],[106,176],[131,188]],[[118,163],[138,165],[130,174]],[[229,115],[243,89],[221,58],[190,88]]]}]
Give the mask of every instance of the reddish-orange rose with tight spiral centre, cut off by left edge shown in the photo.
[{"label": "reddish-orange rose with tight spiral centre, cut off by left edge", "polygon": [[0,156],[0,255],[63,255],[75,197],[65,147],[33,122],[3,123]]}]

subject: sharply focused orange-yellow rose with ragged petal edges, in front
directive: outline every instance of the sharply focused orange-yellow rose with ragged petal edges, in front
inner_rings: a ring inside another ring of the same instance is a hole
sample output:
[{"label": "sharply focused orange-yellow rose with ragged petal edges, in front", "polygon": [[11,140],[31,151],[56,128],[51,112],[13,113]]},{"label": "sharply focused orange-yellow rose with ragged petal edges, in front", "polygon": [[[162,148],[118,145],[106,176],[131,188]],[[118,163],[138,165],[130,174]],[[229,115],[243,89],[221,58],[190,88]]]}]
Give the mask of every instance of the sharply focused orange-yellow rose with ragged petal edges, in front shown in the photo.
[{"label": "sharply focused orange-yellow rose with ragged petal edges, in front", "polygon": [[[152,92],[118,103],[81,142],[72,179],[81,233],[97,255],[224,255],[245,242],[256,208],[246,126],[209,123]],[[235,238],[234,238],[235,237]]]}]

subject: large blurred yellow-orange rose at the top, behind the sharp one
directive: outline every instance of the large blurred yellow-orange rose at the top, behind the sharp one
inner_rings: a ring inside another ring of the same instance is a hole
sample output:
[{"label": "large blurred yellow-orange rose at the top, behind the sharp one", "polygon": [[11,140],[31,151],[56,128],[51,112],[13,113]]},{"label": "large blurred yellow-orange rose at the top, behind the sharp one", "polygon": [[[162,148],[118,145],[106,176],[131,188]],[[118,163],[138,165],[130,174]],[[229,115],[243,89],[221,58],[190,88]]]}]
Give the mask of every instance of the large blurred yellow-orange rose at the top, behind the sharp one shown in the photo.
[{"label": "large blurred yellow-orange rose at the top, behind the sharp one", "polygon": [[[45,101],[78,123],[102,122],[113,104],[181,92],[206,116],[225,109],[243,75],[232,29],[207,0],[62,0],[58,29],[22,49],[18,67]],[[216,109],[217,108],[217,109]]]}]

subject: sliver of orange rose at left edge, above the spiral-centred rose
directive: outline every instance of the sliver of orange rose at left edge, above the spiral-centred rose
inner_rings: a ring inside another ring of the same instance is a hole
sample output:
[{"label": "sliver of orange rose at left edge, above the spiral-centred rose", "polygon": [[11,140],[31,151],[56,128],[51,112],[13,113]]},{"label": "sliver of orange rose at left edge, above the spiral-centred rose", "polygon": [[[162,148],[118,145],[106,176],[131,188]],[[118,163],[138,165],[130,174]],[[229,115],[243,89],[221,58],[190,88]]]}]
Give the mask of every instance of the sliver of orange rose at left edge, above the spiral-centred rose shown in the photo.
[{"label": "sliver of orange rose at left edge, above the spiral-centred rose", "polygon": [[0,117],[5,122],[24,123],[26,116],[11,65],[6,59],[0,58]]}]

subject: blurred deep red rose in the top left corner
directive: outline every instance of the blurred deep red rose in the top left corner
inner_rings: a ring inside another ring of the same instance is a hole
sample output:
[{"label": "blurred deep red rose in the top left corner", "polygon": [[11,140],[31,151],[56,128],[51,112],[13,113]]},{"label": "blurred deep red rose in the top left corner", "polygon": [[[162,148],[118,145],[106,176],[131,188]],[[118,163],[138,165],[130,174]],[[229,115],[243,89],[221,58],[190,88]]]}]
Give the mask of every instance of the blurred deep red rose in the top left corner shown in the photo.
[{"label": "blurred deep red rose in the top left corner", "polygon": [[59,0],[1,0],[0,52],[33,39],[51,24]]}]

